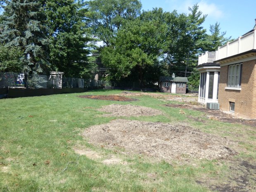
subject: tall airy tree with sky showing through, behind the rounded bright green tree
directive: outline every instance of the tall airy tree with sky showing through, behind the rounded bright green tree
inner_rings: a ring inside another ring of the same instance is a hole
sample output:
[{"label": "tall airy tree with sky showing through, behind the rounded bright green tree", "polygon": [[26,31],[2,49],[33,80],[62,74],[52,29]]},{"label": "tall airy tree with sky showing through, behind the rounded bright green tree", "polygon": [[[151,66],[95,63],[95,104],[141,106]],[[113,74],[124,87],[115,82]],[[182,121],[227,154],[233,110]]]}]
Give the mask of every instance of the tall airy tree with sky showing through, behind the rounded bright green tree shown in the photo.
[{"label": "tall airy tree with sky showing through, behind the rounded bright green tree", "polygon": [[111,46],[117,32],[140,14],[139,0],[93,0],[87,2],[93,35]]}]

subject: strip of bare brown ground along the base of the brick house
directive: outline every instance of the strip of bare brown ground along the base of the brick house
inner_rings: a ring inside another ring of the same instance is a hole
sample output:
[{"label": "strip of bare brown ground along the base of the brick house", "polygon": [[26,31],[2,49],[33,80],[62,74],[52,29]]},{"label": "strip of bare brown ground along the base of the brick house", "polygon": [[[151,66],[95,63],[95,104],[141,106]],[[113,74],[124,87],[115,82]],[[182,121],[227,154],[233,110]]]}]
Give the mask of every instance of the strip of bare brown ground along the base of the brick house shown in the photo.
[{"label": "strip of bare brown ground along the base of the brick house", "polygon": [[[190,105],[190,104],[166,104],[167,107],[174,107],[174,108],[182,108],[182,109],[192,109],[206,113],[209,119],[216,120],[216,121],[223,121],[228,123],[239,123],[242,125],[256,127],[256,120],[252,119],[242,119],[233,116],[232,114],[224,113],[222,110],[211,110],[206,109],[201,105]],[[190,116],[190,118],[194,119],[194,117]],[[194,119],[195,121],[203,121],[200,118]]]}]

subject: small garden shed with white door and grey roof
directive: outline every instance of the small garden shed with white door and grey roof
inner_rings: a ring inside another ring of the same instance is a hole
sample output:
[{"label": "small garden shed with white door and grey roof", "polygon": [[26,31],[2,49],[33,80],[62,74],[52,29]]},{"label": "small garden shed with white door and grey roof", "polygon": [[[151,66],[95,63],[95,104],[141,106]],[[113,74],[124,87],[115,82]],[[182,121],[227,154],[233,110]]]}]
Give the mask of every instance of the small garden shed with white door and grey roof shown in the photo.
[{"label": "small garden shed with white door and grey roof", "polygon": [[174,73],[171,77],[160,76],[160,92],[186,93],[187,82],[186,77],[175,77]]}]

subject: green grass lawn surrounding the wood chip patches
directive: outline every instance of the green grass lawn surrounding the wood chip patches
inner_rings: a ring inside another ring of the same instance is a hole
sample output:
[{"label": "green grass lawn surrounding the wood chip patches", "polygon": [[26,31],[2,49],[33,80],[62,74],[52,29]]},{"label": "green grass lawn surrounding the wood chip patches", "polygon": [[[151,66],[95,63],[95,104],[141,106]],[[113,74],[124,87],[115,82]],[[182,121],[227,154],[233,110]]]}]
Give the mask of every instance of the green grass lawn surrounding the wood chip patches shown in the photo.
[{"label": "green grass lawn surrounding the wood chip patches", "polygon": [[[241,170],[230,169],[234,162],[256,164],[256,128],[209,120],[199,111],[183,109],[185,114],[179,114],[180,109],[165,107],[163,104],[168,102],[150,96],[133,97],[139,99],[135,102],[78,97],[120,92],[95,90],[0,100],[0,192],[207,192],[211,191],[208,181],[222,186],[229,184],[227,178],[232,181],[232,177],[235,179],[240,174]],[[164,115],[122,118],[188,123],[193,128],[237,142],[239,153],[229,160],[192,159],[188,164],[178,164],[177,161],[170,164],[88,144],[81,136],[86,128],[117,119],[103,117],[103,112],[96,110],[113,103],[159,109]],[[204,121],[194,121],[188,116]],[[76,154],[74,147],[77,145],[101,154],[101,159],[92,160]],[[128,163],[102,163],[102,159],[111,156]],[[248,185],[255,182],[255,175],[251,174],[247,174]],[[236,186],[232,182],[230,185]]]}]

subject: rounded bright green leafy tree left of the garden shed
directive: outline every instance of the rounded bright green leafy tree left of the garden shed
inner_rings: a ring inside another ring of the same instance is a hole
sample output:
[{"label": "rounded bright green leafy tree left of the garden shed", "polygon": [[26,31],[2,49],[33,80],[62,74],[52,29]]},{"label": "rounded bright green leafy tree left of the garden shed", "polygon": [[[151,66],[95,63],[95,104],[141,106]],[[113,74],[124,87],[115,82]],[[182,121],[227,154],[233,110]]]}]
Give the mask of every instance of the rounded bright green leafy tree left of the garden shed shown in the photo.
[{"label": "rounded bright green leafy tree left of the garden shed", "polygon": [[114,47],[104,47],[101,56],[109,68],[108,78],[137,78],[141,86],[145,85],[146,71],[156,66],[164,50],[166,24],[161,20],[162,14],[162,9],[143,12],[122,26]]}]

